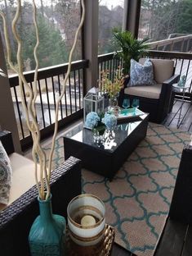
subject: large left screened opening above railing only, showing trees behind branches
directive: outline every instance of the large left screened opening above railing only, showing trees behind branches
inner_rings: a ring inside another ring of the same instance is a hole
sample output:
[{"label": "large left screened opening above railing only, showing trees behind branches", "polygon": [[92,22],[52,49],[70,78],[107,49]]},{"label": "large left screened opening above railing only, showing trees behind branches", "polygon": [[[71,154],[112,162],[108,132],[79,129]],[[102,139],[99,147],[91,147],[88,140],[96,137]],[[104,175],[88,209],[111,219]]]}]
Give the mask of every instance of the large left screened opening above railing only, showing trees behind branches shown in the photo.
[{"label": "large left screened opening above railing only, showing trees behind branches", "polygon": [[[54,66],[68,62],[69,50],[74,41],[74,33],[80,21],[80,1],[39,1],[38,3],[38,29],[40,44],[38,47],[39,68]],[[11,39],[12,62],[16,64],[16,41],[11,33],[11,21],[16,13],[16,5],[13,1],[5,1],[1,10],[7,16],[8,32]],[[2,43],[5,40],[2,30]],[[33,47],[36,43],[33,26],[32,0],[22,4],[22,12],[17,25],[18,33],[23,41],[23,65],[25,71],[35,68]],[[6,53],[6,52],[5,52]],[[73,60],[82,58],[81,38],[74,52]],[[8,68],[8,73],[11,71]]]}]

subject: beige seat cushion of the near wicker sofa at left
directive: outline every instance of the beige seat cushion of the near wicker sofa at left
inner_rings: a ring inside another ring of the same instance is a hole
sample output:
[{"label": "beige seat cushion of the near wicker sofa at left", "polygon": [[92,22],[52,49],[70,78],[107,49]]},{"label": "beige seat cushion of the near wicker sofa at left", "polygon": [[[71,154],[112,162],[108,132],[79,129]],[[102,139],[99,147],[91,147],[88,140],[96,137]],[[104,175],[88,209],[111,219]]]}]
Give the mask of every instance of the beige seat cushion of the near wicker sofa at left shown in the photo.
[{"label": "beige seat cushion of the near wicker sofa at left", "polygon": [[9,204],[18,199],[33,185],[36,184],[34,178],[34,162],[18,153],[9,155],[12,167],[12,185],[10,191]]}]

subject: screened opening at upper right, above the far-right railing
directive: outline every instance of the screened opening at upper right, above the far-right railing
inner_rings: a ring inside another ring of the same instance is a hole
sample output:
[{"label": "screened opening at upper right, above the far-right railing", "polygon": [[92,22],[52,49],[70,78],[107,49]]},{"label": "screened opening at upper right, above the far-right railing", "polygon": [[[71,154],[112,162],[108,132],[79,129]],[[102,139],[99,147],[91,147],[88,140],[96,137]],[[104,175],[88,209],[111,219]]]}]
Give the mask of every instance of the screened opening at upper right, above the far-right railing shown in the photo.
[{"label": "screened opening at upper right, above the far-right railing", "polygon": [[191,34],[191,12],[190,0],[142,0],[139,38],[159,41]]}]

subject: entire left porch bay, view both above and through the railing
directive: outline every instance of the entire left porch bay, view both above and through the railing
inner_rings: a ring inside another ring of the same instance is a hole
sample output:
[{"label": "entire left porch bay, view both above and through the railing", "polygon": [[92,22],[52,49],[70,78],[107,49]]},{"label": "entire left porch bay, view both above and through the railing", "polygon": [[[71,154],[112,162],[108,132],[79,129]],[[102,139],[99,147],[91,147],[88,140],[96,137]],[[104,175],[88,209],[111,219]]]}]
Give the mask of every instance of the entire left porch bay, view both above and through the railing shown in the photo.
[{"label": "entire left porch bay, view both above and through the railing", "polygon": [[[80,0],[55,0],[36,1],[38,3],[38,30],[39,47],[38,61],[39,68],[48,67],[39,73],[38,96],[36,98],[37,121],[40,130],[51,126],[55,122],[56,98],[60,96],[65,80],[65,70],[59,67],[49,68],[68,62],[69,50],[74,43],[74,34],[78,28],[81,18]],[[5,0],[1,5],[7,17],[7,27],[11,39],[11,60],[16,66],[17,43],[11,33],[11,21],[16,14],[16,4],[14,1]],[[5,39],[2,30],[2,20],[0,19],[0,31],[2,43],[5,48]],[[24,71],[34,70],[36,63],[33,57],[33,48],[36,43],[35,30],[33,25],[32,0],[22,2],[22,11],[17,31],[23,42],[23,66]],[[5,51],[6,53],[6,51]],[[73,61],[82,59],[81,36],[73,55]],[[26,126],[26,118],[21,104],[20,88],[15,75],[7,65],[8,75],[11,84],[11,95],[16,113],[16,121],[20,134],[20,139],[29,136]],[[32,72],[33,73],[33,72]],[[28,74],[29,87],[34,91],[33,75]],[[15,82],[13,82],[15,81]],[[65,96],[59,106],[59,120],[78,112],[83,106],[83,67],[78,66],[77,70],[71,71],[65,87]],[[25,102],[29,102],[29,89],[24,89]]]}]

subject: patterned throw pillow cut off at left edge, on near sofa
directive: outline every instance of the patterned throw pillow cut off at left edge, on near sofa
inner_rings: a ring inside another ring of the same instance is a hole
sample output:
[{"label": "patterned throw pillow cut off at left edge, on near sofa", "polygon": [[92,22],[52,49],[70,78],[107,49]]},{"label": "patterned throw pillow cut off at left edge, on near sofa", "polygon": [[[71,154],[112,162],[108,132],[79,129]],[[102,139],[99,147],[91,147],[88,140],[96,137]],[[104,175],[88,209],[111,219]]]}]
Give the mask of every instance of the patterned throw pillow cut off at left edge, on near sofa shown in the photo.
[{"label": "patterned throw pillow cut off at left edge, on near sofa", "polygon": [[12,181],[11,162],[0,141],[0,203],[7,204]]}]

